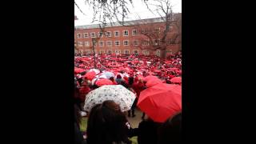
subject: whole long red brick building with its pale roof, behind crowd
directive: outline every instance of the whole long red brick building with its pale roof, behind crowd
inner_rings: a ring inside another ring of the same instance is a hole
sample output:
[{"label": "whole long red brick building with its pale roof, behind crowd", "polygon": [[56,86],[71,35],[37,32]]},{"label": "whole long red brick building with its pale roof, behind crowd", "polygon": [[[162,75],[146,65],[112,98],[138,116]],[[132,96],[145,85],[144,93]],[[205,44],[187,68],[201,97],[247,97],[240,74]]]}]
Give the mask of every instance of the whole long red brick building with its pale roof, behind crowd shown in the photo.
[{"label": "whole long red brick building with its pale roof, behind crowd", "polygon": [[[174,18],[181,18],[181,14],[175,14]],[[155,47],[162,45],[159,38],[161,38],[165,28],[166,25],[162,18],[128,21],[124,22],[123,25],[107,24],[104,29],[100,29],[98,25],[75,26],[75,53],[92,54],[93,38],[95,38],[97,42],[95,42],[94,50],[98,54],[160,55],[161,50]],[[146,31],[148,34],[152,33],[152,36],[148,37]],[[178,35],[178,38],[175,35]],[[166,54],[174,54],[182,49],[181,27],[171,25],[167,37],[168,41],[172,41],[172,38],[175,37],[175,41],[178,42],[165,45]]]}]

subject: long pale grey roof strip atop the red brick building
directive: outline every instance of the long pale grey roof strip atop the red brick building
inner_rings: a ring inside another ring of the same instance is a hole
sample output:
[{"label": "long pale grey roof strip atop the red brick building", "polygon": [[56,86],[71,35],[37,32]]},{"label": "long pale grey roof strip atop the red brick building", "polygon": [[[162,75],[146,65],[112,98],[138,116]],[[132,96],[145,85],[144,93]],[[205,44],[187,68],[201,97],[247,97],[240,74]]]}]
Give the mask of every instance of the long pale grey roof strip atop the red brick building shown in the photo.
[{"label": "long pale grey roof strip atop the red brick building", "polygon": [[[181,13],[174,14],[174,15],[180,15]],[[175,16],[174,16],[175,17]],[[106,23],[105,27],[114,27],[114,26],[133,26],[133,25],[142,25],[147,23],[158,23],[158,22],[165,22],[165,18],[147,18],[147,19],[139,19],[139,20],[133,20],[133,21],[126,21],[123,24],[120,24],[119,22],[114,23]],[[102,24],[101,24],[102,26]],[[74,26],[75,30],[83,30],[83,29],[96,29],[99,28],[99,24],[93,24],[93,25],[83,25],[83,26]]]}]

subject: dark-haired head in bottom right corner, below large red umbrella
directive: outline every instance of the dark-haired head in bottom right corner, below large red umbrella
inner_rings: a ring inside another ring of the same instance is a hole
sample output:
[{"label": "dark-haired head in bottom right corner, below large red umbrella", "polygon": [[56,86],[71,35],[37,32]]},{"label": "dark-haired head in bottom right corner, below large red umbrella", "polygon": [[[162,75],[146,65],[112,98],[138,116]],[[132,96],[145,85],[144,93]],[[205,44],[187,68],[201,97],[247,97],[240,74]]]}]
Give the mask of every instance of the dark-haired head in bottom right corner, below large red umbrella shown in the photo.
[{"label": "dark-haired head in bottom right corner, below large red umbrella", "polygon": [[158,131],[158,144],[181,143],[182,113],[174,115],[162,124]]}]

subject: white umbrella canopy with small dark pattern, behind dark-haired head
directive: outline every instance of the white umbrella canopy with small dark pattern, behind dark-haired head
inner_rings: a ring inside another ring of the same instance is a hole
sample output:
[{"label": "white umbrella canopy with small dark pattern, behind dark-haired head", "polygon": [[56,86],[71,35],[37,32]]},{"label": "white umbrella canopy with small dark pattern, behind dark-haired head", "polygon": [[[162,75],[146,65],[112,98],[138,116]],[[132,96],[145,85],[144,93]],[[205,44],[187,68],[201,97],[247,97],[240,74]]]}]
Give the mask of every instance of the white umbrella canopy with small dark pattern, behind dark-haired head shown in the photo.
[{"label": "white umbrella canopy with small dark pattern, behind dark-haired head", "polygon": [[122,85],[105,85],[86,95],[84,110],[90,111],[95,105],[112,100],[120,106],[122,111],[126,111],[130,110],[135,98],[135,94]]}]

